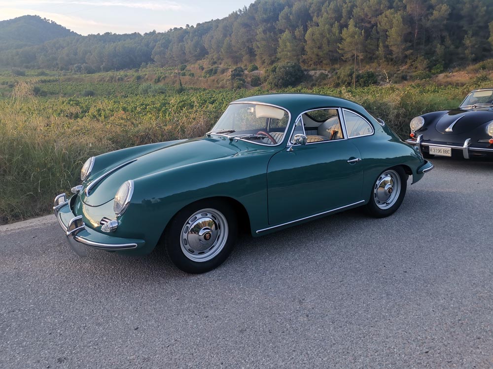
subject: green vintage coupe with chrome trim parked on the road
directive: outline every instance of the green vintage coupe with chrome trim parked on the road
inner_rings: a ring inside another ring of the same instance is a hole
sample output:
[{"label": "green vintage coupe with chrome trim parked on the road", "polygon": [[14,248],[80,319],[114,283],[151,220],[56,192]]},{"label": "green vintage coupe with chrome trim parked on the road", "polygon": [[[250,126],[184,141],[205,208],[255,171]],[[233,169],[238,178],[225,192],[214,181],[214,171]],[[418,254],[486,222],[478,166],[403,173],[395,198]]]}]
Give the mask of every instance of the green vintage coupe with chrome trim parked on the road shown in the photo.
[{"label": "green vintage coupe with chrome trim parked on the road", "polygon": [[89,158],[54,212],[72,248],[146,254],[163,244],[175,265],[207,272],[239,228],[264,235],[365,206],[399,208],[408,176],[433,165],[361,106],[313,94],[232,102],[204,137]]}]

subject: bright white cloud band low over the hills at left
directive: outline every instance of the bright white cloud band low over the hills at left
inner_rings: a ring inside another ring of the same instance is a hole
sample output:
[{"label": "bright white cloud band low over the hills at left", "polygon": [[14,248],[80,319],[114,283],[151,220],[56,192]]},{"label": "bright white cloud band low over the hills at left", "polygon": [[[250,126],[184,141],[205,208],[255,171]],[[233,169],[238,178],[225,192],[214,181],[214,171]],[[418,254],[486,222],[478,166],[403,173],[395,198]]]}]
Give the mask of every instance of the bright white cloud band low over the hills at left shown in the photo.
[{"label": "bright white cloud band low over the hills at left", "polygon": [[[110,23],[102,23],[96,22],[92,20],[83,19],[76,16],[59,14],[46,12],[42,10],[35,9],[19,9],[19,8],[2,8],[0,14],[0,20],[12,19],[16,17],[20,17],[22,15],[31,14],[31,15],[39,15],[42,18],[47,18],[58,23],[61,26],[64,26],[71,31],[87,35],[90,33],[132,33],[132,32],[150,32],[153,29],[159,32],[168,31],[170,28],[174,27],[182,27],[172,24],[152,24],[152,25],[130,25],[130,24],[110,24]],[[145,27],[145,29],[144,29]],[[150,28],[150,29],[148,29]]]}]

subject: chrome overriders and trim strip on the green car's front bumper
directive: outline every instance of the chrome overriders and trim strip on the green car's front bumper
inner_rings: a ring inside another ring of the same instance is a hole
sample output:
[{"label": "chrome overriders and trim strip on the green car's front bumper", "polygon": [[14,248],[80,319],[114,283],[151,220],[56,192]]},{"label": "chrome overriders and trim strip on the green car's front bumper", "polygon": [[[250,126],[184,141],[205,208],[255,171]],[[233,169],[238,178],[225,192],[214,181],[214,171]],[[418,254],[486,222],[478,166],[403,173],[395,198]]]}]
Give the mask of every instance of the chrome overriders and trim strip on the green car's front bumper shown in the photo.
[{"label": "chrome overriders and trim strip on the green car's front bumper", "polygon": [[[53,203],[53,212],[60,224],[60,227],[65,231],[65,235],[67,236],[67,240],[70,244],[70,247],[75,251],[75,253],[79,256],[86,256],[87,249],[86,246],[103,249],[107,251],[116,251],[116,250],[128,250],[137,247],[136,243],[124,243],[124,244],[106,244],[101,242],[95,242],[87,239],[81,233],[88,231],[84,221],[82,219],[82,215],[74,216],[70,219],[68,224],[64,224],[62,220],[61,210],[65,207],[70,208],[70,199],[67,199],[65,193],[62,193],[55,197]],[[70,212],[71,213],[71,212]],[[67,219],[67,218],[65,218]]]}]

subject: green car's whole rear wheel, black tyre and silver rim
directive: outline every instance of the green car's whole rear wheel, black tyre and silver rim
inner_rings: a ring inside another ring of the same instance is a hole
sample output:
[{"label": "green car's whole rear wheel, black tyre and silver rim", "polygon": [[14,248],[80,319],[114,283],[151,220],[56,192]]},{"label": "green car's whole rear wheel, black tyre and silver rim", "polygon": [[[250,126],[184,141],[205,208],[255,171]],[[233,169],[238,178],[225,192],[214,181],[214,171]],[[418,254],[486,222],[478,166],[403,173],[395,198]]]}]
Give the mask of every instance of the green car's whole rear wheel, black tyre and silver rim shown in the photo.
[{"label": "green car's whole rear wheel, black tyre and silver rim", "polygon": [[401,167],[383,171],[373,184],[370,201],[366,204],[368,214],[382,218],[399,209],[406,194],[407,178]]}]

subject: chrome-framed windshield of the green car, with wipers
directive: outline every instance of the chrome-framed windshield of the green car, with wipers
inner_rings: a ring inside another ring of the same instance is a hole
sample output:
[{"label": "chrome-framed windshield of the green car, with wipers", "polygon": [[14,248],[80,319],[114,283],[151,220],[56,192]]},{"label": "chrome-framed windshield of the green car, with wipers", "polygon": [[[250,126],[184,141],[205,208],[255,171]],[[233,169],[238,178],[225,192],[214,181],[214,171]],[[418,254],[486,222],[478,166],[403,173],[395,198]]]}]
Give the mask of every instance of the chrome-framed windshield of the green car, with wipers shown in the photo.
[{"label": "chrome-framed windshield of the green car, with wipers", "polygon": [[230,104],[208,134],[223,134],[261,145],[278,145],[284,139],[289,113],[272,105]]}]

